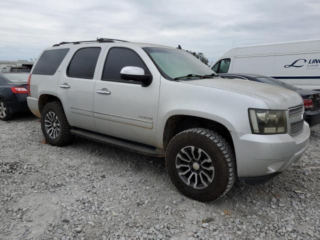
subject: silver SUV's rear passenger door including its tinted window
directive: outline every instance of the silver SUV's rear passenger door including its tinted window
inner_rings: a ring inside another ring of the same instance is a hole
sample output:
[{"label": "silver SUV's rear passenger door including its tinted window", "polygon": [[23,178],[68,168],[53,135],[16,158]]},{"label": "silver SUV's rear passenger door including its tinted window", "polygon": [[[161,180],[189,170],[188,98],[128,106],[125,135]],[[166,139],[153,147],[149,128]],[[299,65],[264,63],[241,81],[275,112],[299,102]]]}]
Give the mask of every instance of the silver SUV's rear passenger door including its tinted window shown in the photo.
[{"label": "silver SUV's rear passenger door including its tinted window", "polygon": [[93,90],[97,79],[100,52],[105,44],[73,48],[59,78],[57,94],[62,101],[69,124],[95,131]]}]

